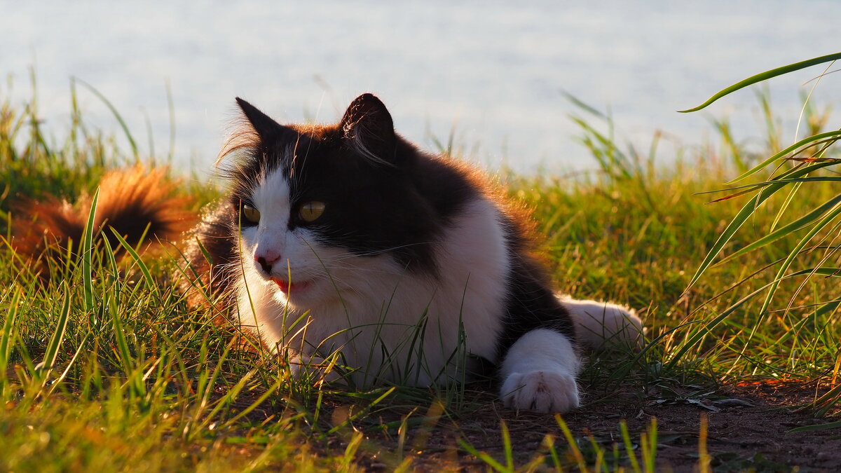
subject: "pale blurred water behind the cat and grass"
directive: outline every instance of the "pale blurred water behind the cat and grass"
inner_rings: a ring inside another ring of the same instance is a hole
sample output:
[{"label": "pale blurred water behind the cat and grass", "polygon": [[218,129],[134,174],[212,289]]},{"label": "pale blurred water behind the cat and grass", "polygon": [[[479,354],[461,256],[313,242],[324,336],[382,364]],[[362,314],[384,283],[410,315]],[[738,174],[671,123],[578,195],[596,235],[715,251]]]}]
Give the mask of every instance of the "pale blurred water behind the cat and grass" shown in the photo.
[{"label": "pale blurred water behind the cat and grass", "polygon": [[[376,93],[396,128],[424,146],[455,141],[475,161],[524,172],[593,167],[575,140],[566,91],[611,109],[621,139],[646,150],[654,130],[701,143],[710,116],[728,114],[758,136],[754,94],[709,114],[677,114],[775,66],[837,52],[841,3],[808,0],[573,3],[322,1],[177,3],[0,1],[0,94],[29,98],[57,137],[69,123],[69,81],[89,82],[123,114],[140,143],[146,121],[158,155],[169,147],[167,83],[177,127],[175,162],[210,167],[241,96],[279,121],[333,121],[358,93]],[[794,135],[812,68],[772,82]],[[832,103],[829,76],[817,100]],[[809,84],[811,85],[811,84]],[[119,132],[80,89],[94,125]],[[665,151],[664,159],[669,159]]]}]

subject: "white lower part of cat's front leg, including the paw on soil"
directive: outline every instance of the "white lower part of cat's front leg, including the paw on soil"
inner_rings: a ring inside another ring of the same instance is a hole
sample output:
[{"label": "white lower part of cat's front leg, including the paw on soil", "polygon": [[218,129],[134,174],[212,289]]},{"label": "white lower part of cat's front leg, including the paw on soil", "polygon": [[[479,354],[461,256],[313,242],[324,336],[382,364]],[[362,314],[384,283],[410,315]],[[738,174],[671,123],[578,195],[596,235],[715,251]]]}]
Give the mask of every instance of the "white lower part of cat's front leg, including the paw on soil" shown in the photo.
[{"label": "white lower part of cat's front leg, including the paw on soil", "polygon": [[527,332],[502,362],[500,397],[505,407],[537,412],[569,412],[579,407],[579,357],[563,333]]}]

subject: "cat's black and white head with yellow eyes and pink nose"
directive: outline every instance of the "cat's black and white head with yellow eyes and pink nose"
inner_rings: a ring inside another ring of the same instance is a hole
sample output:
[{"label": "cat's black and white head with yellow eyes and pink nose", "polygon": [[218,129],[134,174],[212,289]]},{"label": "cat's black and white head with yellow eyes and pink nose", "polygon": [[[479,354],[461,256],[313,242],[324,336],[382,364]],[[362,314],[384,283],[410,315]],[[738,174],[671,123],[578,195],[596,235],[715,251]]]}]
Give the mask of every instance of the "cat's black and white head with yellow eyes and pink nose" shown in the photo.
[{"label": "cat's black and white head with yellow eyes and pink nose", "polygon": [[442,222],[417,189],[419,151],[378,98],[359,96],[334,125],[280,125],[237,103],[246,122],[223,154],[238,151],[225,174],[246,275],[311,307],[431,270]]}]

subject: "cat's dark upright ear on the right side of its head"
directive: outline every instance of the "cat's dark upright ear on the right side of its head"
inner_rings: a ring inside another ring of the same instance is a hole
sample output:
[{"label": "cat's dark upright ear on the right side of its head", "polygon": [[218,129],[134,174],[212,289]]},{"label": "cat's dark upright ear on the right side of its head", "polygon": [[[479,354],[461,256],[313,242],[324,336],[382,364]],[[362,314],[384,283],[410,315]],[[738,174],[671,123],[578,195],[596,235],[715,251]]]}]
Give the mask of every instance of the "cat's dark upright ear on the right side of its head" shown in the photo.
[{"label": "cat's dark upright ear on the right side of its head", "polygon": [[340,125],[344,139],[354,151],[373,162],[395,164],[394,121],[379,98],[363,93],[354,99]]}]

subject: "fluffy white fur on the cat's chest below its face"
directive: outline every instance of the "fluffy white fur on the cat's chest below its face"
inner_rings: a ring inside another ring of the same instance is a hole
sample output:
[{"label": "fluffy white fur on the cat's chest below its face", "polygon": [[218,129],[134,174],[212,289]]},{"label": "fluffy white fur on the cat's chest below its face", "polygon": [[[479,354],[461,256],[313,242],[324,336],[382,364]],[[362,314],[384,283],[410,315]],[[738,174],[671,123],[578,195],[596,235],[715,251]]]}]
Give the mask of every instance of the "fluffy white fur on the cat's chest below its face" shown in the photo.
[{"label": "fluffy white fur on the cat's chest below its face", "polygon": [[495,361],[509,268],[499,215],[486,199],[465,205],[431,242],[436,277],[410,273],[388,254],[353,256],[307,242],[309,258],[320,263],[309,274],[320,270],[332,285],[330,296],[307,306],[295,305],[294,291],[287,297],[246,261],[237,294],[241,323],[270,347],[304,359],[341,350],[340,363],[359,369],[354,378],[363,383],[429,385],[456,375],[466,353]]}]

